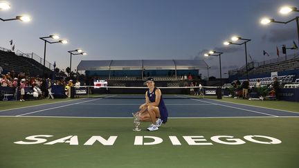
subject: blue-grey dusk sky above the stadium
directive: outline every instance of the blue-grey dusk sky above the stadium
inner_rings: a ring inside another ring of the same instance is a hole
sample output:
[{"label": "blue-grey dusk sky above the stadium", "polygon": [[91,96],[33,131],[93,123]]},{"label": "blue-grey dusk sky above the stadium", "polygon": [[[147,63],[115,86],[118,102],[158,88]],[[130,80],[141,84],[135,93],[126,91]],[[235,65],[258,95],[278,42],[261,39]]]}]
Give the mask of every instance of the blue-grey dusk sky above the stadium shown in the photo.
[{"label": "blue-grey dusk sky above the stadium", "polygon": [[[44,57],[39,37],[58,34],[69,44],[47,44],[46,60],[57,67],[69,66],[67,50],[82,48],[86,56],[73,56],[72,70],[81,60],[105,59],[206,59],[207,50],[224,52],[222,72],[245,64],[244,45],[224,46],[239,35],[248,42],[248,54],[263,61],[263,50],[277,58],[276,46],[298,45],[296,21],[260,24],[262,17],[288,21],[299,12],[280,15],[281,6],[299,8],[298,0],[8,0],[10,10],[0,10],[2,19],[30,15],[32,21],[1,21],[0,47],[36,53]],[[289,50],[289,54],[298,50]],[[282,53],[280,54],[282,55]],[[248,61],[250,58],[248,57]],[[219,77],[219,59],[206,59],[210,75]],[[200,73],[206,76],[207,71]],[[223,75],[227,77],[228,75]]]}]

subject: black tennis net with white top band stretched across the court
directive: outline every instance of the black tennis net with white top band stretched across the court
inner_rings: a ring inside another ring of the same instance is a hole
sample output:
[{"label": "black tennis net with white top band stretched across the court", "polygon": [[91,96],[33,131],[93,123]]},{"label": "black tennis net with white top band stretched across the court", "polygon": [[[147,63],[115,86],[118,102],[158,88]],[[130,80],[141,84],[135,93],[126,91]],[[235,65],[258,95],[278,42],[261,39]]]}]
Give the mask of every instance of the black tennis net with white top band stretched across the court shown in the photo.
[{"label": "black tennis net with white top band stretched across the court", "polygon": [[[216,98],[219,87],[184,86],[184,87],[158,87],[164,99],[194,99]],[[147,87],[129,86],[80,86],[73,88],[73,97],[112,98],[112,99],[144,99]],[[219,98],[219,97],[218,97]]]}]

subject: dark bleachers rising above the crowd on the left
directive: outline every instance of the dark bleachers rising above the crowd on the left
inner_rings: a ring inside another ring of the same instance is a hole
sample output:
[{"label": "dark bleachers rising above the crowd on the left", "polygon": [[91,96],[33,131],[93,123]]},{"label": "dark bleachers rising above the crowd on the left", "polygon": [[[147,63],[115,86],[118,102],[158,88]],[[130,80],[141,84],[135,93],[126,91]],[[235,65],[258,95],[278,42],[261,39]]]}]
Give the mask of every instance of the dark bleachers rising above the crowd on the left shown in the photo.
[{"label": "dark bleachers rising above the crowd on the left", "polygon": [[[10,51],[0,50],[0,66],[4,73],[15,71],[16,74],[24,72],[30,76],[42,75],[44,66],[28,57],[16,55]],[[51,73],[51,70],[46,68],[45,73]]]}]

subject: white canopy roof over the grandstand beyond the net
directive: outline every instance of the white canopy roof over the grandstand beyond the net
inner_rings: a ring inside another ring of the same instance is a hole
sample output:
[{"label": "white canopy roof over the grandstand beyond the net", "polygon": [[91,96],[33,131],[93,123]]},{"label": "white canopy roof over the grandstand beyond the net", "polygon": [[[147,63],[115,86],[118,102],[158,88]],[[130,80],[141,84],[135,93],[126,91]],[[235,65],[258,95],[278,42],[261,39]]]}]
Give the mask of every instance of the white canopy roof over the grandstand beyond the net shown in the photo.
[{"label": "white canopy roof over the grandstand beyond the net", "polygon": [[82,60],[78,71],[206,69],[203,59]]}]

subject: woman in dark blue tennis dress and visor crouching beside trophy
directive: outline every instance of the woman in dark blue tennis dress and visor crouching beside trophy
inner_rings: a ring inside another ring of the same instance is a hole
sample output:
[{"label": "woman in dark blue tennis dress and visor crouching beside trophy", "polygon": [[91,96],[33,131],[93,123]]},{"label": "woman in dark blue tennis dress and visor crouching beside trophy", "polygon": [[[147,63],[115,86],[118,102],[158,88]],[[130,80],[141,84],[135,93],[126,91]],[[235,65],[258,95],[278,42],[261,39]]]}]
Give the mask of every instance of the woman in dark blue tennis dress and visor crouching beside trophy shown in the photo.
[{"label": "woman in dark blue tennis dress and visor crouching beside trophy", "polygon": [[147,78],[148,90],[145,93],[145,104],[139,106],[139,120],[143,122],[152,122],[147,128],[148,131],[156,131],[162,122],[167,122],[168,112],[162,97],[161,90],[154,86],[154,78]]}]

